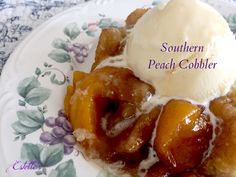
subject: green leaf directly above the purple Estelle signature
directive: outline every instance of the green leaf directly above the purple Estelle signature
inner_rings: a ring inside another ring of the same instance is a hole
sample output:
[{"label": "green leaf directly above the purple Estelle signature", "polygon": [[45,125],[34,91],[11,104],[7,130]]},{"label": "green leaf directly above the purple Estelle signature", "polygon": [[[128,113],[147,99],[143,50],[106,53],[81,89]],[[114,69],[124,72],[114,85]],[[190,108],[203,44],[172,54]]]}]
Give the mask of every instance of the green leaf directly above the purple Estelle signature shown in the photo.
[{"label": "green leaf directly above the purple Estelle signature", "polygon": [[43,146],[40,144],[24,143],[21,147],[21,159],[36,160],[40,163],[40,153],[43,150]]}]

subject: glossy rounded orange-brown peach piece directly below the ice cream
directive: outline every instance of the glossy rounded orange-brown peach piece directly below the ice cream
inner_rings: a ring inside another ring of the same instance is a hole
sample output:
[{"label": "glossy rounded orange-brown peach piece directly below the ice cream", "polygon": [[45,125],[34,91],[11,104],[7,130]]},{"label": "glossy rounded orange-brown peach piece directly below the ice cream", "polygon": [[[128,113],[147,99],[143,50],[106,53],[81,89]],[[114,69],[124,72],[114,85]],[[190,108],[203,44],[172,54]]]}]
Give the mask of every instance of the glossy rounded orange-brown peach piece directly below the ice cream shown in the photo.
[{"label": "glossy rounded orange-brown peach piece directly below the ice cream", "polygon": [[163,108],[156,131],[155,150],[172,173],[201,164],[213,128],[203,108],[171,100]]}]

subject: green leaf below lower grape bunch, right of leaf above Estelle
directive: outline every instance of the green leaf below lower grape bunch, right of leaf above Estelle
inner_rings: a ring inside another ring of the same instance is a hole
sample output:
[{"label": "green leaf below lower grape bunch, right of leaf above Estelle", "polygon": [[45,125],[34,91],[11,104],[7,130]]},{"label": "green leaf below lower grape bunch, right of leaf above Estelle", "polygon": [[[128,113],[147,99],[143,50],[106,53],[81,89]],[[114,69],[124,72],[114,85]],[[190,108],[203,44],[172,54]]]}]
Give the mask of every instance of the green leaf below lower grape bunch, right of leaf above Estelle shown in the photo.
[{"label": "green leaf below lower grape bunch, right of leaf above Estelle", "polygon": [[46,146],[40,153],[40,162],[43,167],[50,167],[62,160],[64,156],[63,144]]}]

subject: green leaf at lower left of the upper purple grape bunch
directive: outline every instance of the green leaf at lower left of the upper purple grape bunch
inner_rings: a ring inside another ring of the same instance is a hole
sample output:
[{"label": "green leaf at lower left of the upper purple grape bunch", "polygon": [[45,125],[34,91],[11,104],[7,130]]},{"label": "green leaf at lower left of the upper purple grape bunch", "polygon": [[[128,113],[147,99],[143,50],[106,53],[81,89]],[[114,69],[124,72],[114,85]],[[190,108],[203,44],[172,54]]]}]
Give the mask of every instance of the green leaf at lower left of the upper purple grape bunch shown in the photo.
[{"label": "green leaf at lower left of the upper purple grape bunch", "polygon": [[70,55],[62,49],[53,50],[48,54],[48,56],[58,63],[71,62]]}]

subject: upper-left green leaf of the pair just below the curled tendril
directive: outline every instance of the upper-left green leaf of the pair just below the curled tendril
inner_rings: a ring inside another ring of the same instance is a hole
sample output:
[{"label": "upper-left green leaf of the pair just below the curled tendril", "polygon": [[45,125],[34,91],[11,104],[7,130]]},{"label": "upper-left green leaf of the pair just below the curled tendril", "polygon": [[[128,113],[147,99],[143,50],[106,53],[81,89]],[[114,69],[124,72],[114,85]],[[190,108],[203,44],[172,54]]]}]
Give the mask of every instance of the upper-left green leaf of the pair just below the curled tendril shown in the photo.
[{"label": "upper-left green leaf of the pair just below the curled tendril", "polygon": [[37,88],[40,86],[39,81],[36,79],[36,77],[28,77],[24,80],[22,80],[18,87],[17,91],[20,96],[23,98],[26,97],[26,95],[34,88]]}]

